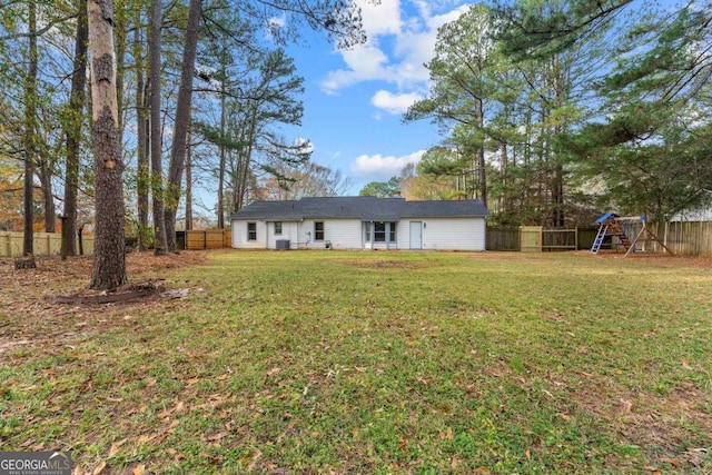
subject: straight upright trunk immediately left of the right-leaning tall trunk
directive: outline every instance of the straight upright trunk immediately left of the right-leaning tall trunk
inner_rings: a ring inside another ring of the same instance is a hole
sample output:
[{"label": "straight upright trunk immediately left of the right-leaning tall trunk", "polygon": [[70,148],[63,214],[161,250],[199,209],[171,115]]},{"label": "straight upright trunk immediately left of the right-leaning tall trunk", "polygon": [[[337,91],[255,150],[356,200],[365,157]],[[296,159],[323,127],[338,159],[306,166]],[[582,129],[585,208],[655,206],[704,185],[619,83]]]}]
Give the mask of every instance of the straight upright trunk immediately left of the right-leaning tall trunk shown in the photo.
[{"label": "straight upright trunk immediately left of the right-leaning tall trunk", "polygon": [[162,2],[151,2],[151,31],[149,38],[150,56],[150,121],[151,121],[151,196],[154,197],[154,239],[156,256],[165,256],[168,246],[166,244],[166,225],[164,221],[164,167],[162,160],[162,133],[160,120],[160,27],[162,22]]}]

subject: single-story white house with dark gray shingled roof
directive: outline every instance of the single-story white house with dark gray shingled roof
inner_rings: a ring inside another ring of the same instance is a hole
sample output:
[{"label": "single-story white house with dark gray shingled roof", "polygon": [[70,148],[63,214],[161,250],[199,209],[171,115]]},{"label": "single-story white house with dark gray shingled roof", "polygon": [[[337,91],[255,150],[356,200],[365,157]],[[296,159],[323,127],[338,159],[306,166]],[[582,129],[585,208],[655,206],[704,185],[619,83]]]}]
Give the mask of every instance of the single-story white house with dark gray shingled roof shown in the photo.
[{"label": "single-story white house with dark gray shingled roof", "polygon": [[482,201],[325,197],[254,201],[231,215],[238,249],[484,250]]}]

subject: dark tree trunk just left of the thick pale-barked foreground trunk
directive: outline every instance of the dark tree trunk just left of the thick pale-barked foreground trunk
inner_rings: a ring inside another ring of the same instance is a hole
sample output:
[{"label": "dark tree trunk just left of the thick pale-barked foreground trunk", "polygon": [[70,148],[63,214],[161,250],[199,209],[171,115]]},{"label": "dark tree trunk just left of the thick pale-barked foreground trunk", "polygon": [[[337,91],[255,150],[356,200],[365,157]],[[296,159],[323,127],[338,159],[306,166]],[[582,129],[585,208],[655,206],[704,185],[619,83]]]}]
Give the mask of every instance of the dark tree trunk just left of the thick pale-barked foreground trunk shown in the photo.
[{"label": "dark tree trunk just left of the thick pale-barked foreground trunk", "polygon": [[65,169],[65,249],[68,256],[77,255],[77,191],[79,188],[79,144],[83,123],[85,83],[87,82],[87,0],[78,0],[75,62],[69,96],[69,125],[67,126],[67,168]]}]

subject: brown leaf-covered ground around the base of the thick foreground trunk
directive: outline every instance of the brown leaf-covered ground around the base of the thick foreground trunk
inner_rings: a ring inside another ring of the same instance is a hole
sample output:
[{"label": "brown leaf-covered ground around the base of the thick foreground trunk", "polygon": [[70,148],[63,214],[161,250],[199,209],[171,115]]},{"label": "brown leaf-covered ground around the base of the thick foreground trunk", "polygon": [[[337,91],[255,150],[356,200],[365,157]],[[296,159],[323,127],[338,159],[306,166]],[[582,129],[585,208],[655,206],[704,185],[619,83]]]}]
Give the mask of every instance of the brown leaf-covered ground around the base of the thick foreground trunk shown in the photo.
[{"label": "brown leaf-covered ground around the base of the thick foreground trunk", "polygon": [[202,289],[186,283],[166,285],[166,270],[199,265],[206,258],[202,251],[130,253],[126,256],[130,283],[115,293],[89,289],[90,256],[36,257],[34,269],[21,270],[14,270],[12,258],[0,259],[0,353],[130,324],[137,313],[177,305],[176,299]]}]

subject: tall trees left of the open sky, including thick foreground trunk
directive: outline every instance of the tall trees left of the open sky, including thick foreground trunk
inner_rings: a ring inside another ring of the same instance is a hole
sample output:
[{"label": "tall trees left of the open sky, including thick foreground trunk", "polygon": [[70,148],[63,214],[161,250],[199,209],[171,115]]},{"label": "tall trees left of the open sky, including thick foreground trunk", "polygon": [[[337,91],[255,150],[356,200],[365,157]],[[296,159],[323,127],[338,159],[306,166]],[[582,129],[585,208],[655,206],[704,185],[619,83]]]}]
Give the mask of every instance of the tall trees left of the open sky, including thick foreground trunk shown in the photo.
[{"label": "tall trees left of the open sky, including thick foreground trunk", "polygon": [[344,189],[340,174],[308,161],[308,142],[279,132],[303,115],[284,46],[309,29],[342,48],[365,41],[354,2],[20,0],[0,11],[0,225],[22,216],[24,255],[36,216],[50,232],[61,216],[68,255],[91,220],[90,286],[117,288],[127,226],[142,247],[176,250],[196,180],[215,184],[218,226],[248,192],[303,176]]}]

